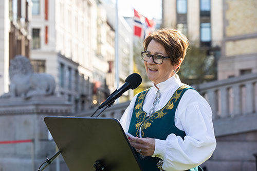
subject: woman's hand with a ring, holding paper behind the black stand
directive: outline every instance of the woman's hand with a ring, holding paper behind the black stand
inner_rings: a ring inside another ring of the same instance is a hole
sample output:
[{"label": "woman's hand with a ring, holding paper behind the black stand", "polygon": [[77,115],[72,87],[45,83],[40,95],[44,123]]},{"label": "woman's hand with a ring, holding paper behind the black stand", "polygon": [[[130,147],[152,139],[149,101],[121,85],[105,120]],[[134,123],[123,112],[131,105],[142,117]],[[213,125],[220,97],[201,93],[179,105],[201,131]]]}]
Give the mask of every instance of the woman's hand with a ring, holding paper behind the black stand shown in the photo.
[{"label": "woman's hand with a ring, holding paper behind the black stand", "polygon": [[143,156],[152,156],[155,150],[155,139],[153,138],[137,138],[129,137],[131,146],[136,148],[136,151]]}]

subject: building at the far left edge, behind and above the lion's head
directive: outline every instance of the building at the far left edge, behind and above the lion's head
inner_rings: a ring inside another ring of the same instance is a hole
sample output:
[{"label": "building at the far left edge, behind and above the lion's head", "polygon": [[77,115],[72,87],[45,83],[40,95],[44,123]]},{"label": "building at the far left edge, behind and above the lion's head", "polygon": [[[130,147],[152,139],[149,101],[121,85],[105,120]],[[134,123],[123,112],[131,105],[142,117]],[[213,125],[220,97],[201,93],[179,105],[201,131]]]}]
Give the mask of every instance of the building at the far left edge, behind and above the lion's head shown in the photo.
[{"label": "building at the far left edge, behind and above the lion's head", "polygon": [[4,0],[0,2],[0,95],[9,91],[9,63],[15,55],[30,57],[29,22],[31,1]]}]

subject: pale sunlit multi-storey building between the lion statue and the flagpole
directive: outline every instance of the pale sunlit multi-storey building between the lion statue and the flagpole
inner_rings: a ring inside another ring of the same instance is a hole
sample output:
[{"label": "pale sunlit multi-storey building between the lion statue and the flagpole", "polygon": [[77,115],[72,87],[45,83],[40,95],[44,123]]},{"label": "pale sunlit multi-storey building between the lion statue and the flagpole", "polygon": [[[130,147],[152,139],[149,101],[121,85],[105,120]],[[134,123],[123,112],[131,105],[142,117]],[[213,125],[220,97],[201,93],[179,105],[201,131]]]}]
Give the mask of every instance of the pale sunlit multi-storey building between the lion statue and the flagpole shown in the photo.
[{"label": "pale sunlit multi-storey building between the lion statue and the flagpole", "polygon": [[96,1],[34,0],[32,14],[33,67],[53,75],[58,96],[72,102],[74,112],[93,107]]}]

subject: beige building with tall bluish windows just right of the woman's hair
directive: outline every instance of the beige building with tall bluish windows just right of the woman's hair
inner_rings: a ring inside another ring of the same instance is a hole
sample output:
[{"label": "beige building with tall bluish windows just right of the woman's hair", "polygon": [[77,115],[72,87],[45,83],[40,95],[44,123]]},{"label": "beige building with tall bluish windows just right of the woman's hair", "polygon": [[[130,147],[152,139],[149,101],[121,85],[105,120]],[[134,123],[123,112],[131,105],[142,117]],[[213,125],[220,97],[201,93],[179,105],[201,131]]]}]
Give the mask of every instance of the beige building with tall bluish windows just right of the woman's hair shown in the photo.
[{"label": "beige building with tall bluish windows just right of the woman's hair", "polygon": [[[209,69],[205,69],[203,79],[207,81],[217,79],[216,63],[221,53],[223,40],[222,9],[222,0],[162,1],[161,27],[180,30],[188,37],[189,48],[192,51],[198,49],[200,55],[205,55],[204,67]],[[210,70],[215,71],[210,72]],[[195,77],[195,75],[185,76],[186,80]],[[193,82],[193,84],[196,83]]]}]

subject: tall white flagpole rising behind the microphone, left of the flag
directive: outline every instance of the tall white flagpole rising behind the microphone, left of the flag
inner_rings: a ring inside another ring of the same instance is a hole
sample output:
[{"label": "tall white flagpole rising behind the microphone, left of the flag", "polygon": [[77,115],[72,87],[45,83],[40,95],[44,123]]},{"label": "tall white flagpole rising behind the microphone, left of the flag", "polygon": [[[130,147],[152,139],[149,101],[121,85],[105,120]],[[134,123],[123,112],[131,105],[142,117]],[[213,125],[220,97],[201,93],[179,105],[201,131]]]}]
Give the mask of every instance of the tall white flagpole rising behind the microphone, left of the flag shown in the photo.
[{"label": "tall white flagpole rising behind the microphone, left of the flag", "polygon": [[[118,13],[118,0],[116,0],[116,29],[115,29],[115,80],[117,89],[119,89],[119,13]],[[116,100],[119,103],[119,99]]]}]

